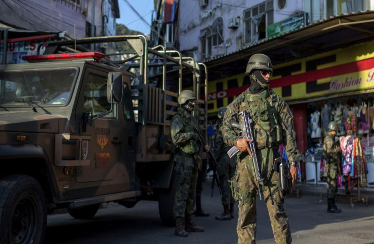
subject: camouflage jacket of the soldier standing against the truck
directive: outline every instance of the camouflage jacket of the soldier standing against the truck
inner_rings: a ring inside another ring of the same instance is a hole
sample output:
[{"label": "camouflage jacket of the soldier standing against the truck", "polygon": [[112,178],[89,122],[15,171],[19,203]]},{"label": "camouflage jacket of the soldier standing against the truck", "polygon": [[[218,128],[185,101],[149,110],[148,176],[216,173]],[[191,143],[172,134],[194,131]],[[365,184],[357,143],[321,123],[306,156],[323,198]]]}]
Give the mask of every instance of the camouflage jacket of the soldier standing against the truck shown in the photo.
[{"label": "camouflage jacket of the soldier standing against the truck", "polygon": [[194,140],[196,125],[196,119],[190,113],[181,107],[178,108],[170,122],[171,140],[177,149],[188,154],[199,151],[200,143]]}]

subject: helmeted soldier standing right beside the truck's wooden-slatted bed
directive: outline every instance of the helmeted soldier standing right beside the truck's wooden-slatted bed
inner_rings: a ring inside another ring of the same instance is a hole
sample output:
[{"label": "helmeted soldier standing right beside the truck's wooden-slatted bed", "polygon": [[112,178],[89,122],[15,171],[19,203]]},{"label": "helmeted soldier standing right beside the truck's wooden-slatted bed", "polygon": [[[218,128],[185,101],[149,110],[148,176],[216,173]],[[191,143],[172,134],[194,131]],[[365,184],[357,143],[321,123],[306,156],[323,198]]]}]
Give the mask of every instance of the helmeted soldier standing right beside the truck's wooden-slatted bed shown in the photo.
[{"label": "helmeted soldier standing right beside the truck's wooden-slatted bed", "polygon": [[[174,173],[177,175],[177,191],[174,199],[175,235],[187,237],[186,231],[204,231],[192,221],[193,198],[196,190],[197,171],[201,168],[199,135],[194,132],[196,119],[191,115],[196,97],[193,91],[182,91],[178,97],[181,107],[170,124],[172,142],[176,147]],[[208,151],[209,147],[205,146]]]}]

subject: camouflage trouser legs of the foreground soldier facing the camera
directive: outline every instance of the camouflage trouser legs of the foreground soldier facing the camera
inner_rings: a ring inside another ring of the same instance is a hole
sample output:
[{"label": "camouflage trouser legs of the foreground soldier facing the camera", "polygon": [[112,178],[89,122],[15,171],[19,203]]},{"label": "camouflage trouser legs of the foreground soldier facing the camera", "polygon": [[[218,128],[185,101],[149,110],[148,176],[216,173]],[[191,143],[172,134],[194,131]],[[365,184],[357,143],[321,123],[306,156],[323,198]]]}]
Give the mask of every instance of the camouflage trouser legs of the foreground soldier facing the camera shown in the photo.
[{"label": "camouflage trouser legs of the foreground soldier facing the camera", "polygon": [[[256,193],[253,170],[248,163],[239,162],[237,171],[237,185],[239,192],[239,218],[237,221],[238,244],[255,243],[256,239]],[[291,230],[288,217],[283,208],[283,194],[278,190],[278,173],[270,173],[269,181],[264,185],[263,196],[269,212],[270,222],[276,243],[291,243]],[[242,195],[247,195],[243,198]]]}]

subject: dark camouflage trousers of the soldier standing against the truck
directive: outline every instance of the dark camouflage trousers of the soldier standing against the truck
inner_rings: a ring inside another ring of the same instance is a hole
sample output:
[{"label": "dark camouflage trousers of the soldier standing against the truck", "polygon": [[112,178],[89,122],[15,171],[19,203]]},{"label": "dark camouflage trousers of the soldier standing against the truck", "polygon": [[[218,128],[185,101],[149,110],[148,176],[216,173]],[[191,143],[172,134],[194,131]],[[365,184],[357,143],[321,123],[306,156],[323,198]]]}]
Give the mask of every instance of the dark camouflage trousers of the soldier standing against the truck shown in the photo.
[{"label": "dark camouflage trousers of the soldier standing against the truck", "polygon": [[197,164],[193,155],[178,154],[174,171],[177,174],[177,190],[174,198],[174,217],[192,215],[193,198],[197,184]]}]

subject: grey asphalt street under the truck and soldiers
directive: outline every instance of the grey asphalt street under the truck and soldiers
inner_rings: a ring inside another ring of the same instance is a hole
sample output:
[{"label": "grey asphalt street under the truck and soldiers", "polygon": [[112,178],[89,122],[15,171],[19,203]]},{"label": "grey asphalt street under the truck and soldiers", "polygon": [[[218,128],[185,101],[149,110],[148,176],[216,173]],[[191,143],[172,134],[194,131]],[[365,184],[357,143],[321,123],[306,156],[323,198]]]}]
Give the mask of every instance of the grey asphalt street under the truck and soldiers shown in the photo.
[{"label": "grey asphalt street under the truck and soldiers", "polygon": [[[203,191],[203,208],[209,217],[195,217],[195,222],[205,227],[205,232],[190,233],[177,237],[174,228],[162,225],[156,201],[140,201],[132,209],[109,204],[91,220],[76,220],[69,214],[48,216],[46,244],[92,243],[237,243],[236,221],[215,220],[222,211],[220,195],[215,189],[210,197],[209,184]],[[286,213],[292,232],[293,243],[353,244],[374,243],[374,204],[365,207],[349,203],[337,203],[343,212],[327,213],[326,199],[320,204],[318,197],[294,195],[285,201]],[[237,207],[236,207],[237,213]],[[257,243],[275,243],[265,203],[257,199]]]}]

